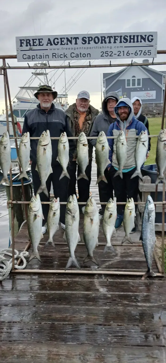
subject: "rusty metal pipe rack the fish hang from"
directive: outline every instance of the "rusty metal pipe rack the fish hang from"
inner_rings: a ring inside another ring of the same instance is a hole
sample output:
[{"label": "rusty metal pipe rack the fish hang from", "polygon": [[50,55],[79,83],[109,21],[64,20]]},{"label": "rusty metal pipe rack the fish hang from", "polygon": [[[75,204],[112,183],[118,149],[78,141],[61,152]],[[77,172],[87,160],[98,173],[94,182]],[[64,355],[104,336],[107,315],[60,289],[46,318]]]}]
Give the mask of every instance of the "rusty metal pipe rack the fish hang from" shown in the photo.
[{"label": "rusty metal pipe rack the fish hang from", "polygon": [[[166,50],[157,50],[157,54],[166,54]],[[9,89],[9,81],[8,81],[8,74],[7,74],[7,70],[10,69],[34,69],[34,66],[30,66],[28,64],[28,66],[10,66],[8,64],[8,66],[6,65],[6,59],[16,59],[17,56],[16,54],[13,55],[2,55],[0,56],[0,59],[3,60],[3,66],[0,67],[0,75],[2,75],[4,77],[4,94],[5,94],[5,108],[6,108],[6,117],[7,117],[7,131],[9,132],[9,116],[8,116],[8,99],[9,99],[9,105],[10,105],[10,113],[11,113],[11,118],[12,118],[12,126],[13,126],[13,133],[14,133],[14,137],[12,137],[12,139],[15,139],[15,143],[16,143],[16,151],[17,151],[17,156],[18,156],[18,144],[17,144],[17,139],[20,139],[19,137],[16,136],[16,130],[15,130],[15,126],[14,126],[14,117],[13,117],[13,109],[12,109],[12,102],[11,102],[11,97],[10,97],[10,89]],[[144,63],[145,65],[165,65],[165,62],[151,62],[151,63]],[[134,66],[141,66],[142,63],[127,63],[127,64],[96,64],[96,65],[64,65],[64,66],[50,66],[49,68],[52,69],[67,69],[67,68],[112,68],[112,67],[134,67]],[[40,67],[39,67],[40,68]],[[45,67],[41,67],[43,68],[48,68],[48,66]],[[165,109],[166,109],[166,87],[165,87],[165,92],[164,92],[164,100],[163,100],[163,112],[162,112],[162,122],[161,122],[161,129],[163,129],[164,126],[164,119],[165,119]],[[9,133],[10,134],[10,133]],[[126,136],[126,138],[137,138],[138,136]],[[150,135],[149,137],[158,137],[158,135]],[[107,139],[111,139],[111,138],[116,138],[114,136],[109,136],[107,137]],[[30,139],[39,139],[39,138],[30,138]],[[59,139],[56,137],[53,137],[51,139]],[[72,137],[72,138],[68,138],[68,139],[77,139],[76,137]],[[97,137],[87,137],[87,139],[97,139]],[[20,167],[20,172],[21,172],[21,167]],[[12,169],[10,169],[10,180],[12,180]],[[42,269],[24,269],[24,270],[16,270],[14,269],[14,215],[13,215],[13,204],[24,204],[25,205],[25,214],[26,214],[26,219],[27,219],[27,204],[29,204],[30,202],[27,202],[25,200],[25,192],[24,192],[24,183],[23,180],[21,179],[21,187],[22,187],[22,197],[23,197],[23,201],[16,201],[13,200],[13,185],[12,183],[10,183],[10,199],[7,202],[7,207],[11,208],[11,220],[12,220],[12,225],[11,225],[11,230],[12,230],[12,273],[33,273],[33,274],[39,274],[39,273],[49,273],[49,274],[105,274],[105,275],[118,275],[118,276],[143,276],[145,271],[141,271],[141,272],[136,272],[135,270],[132,271],[122,271],[122,270],[117,270],[117,271],[112,271],[112,270],[42,270]],[[162,205],[162,261],[161,261],[161,265],[159,263],[158,257],[156,255],[156,252],[154,251],[154,259],[156,261],[156,265],[158,268],[159,273],[156,274],[157,277],[163,277],[164,276],[164,222],[165,222],[165,207],[166,207],[166,201],[165,201],[165,184],[163,183],[163,190],[162,190],[162,201],[161,202],[157,202],[157,185],[156,185],[156,192],[155,192],[155,201],[154,204],[160,204]],[[42,202],[42,204],[50,204],[50,202]],[[60,204],[67,204],[67,202],[61,202]],[[85,203],[78,203],[78,204],[85,204]],[[98,202],[97,204],[106,204],[106,203],[100,203]],[[125,203],[117,203],[117,204],[125,204]],[[135,204],[144,204],[144,202],[137,202]],[[30,248],[31,242],[29,241],[24,249],[24,251],[27,251]],[[100,245],[100,244],[99,244]],[[102,245],[102,244],[101,244]],[[118,246],[122,246],[123,245],[118,245]],[[140,246],[141,244],[133,244],[133,245],[125,245],[125,246],[130,246],[131,247],[135,247],[135,246]],[[21,262],[21,258],[17,261],[17,265],[20,265]]]}]

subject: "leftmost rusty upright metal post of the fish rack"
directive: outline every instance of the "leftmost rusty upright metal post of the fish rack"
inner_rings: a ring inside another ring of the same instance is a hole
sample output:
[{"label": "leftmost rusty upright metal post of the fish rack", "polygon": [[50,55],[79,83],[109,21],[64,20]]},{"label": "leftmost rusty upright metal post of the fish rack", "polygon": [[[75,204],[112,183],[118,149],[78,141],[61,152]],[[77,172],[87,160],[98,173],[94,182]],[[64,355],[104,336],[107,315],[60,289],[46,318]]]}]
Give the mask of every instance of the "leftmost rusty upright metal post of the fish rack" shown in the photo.
[{"label": "leftmost rusty upright metal post of the fish rack", "polygon": [[[5,59],[3,59],[3,66],[5,66]],[[7,117],[7,131],[9,131],[9,116],[8,116],[8,99],[7,99],[7,78],[6,69],[4,69],[4,92],[5,92],[5,107],[6,107],[6,117]],[[13,185],[12,185],[12,167],[10,168],[10,199],[13,200]],[[13,204],[11,203],[11,230],[12,230],[12,270],[14,270],[14,215],[13,215]]]}]

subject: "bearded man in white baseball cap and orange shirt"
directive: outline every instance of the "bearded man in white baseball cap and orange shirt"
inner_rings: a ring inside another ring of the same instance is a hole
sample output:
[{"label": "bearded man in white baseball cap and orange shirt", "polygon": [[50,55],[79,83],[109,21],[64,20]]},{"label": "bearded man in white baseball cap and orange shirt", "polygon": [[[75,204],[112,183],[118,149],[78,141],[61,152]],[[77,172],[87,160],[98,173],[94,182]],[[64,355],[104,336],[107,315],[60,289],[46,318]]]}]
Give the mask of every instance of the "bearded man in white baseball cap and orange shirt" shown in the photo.
[{"label": "bearded man in white baseball cap and orange shirt", "polygon": [[[72,134],[75,137],[78,137],[83,131],[86,136],[90,136],[90,131],[93,125],[93,121],[95,117],[98,115],[99,111],[95,109],[93,106],[90,105],[90,95],[88,91],[81,91],[77,95],[76,102],[73,105],[69,106],[69,108],[65,111],[67,115],[68,123],[71,127]],[[91,162],[92,162],[92,152],[93,152],[93,145],[88,140],[88,147],[89,147],[89,164],[85,170],[86,176],[88,176],[89,180],[81,178],[77,181],[78,185],[78,195],[79,195],[79,202],[85,202],[89,199],[89,188],[90,188],[90,181],[91,181]],[[77,142],[76,142],[76,149],[73,157],[73,161],[70,163],[70,181],[69,181],[69,188],[68,188],[68,195],[76,195],[76,171],[77,177],[80,175],[81,170],[78,166],[77,169]],[[84,213],[85,207],[80,208],[82,209],[82,213]]]}]

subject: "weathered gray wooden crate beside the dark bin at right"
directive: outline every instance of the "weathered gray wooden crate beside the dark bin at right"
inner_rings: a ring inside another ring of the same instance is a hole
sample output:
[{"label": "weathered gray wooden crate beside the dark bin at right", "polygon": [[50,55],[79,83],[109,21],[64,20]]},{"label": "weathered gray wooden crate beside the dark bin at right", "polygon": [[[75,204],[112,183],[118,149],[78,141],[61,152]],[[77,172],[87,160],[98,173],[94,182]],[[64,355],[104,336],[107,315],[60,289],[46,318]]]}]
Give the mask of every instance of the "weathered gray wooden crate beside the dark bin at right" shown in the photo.
[{"label": "weathered gray wooden crate beside the dark bin at right", "polygon": [[[158,192],[162,192],[162,188],[163,188],[163,184],[158,184]],[[143,179],[139,179],[139,191],[142,192],[142,200],[140,199],[140,196],[138,196],[138,201],[142,201],[146,203],[146,198],[148,195],[150,195],[151,192],[155,192],[156,191],[156,184],[152,184],[151,183],[151,179],[150,176],[143,176]],[[144,207],[145,205],[140,204],[138,205],[138,210],[137,210],[137,222],[138,222],[138,227],[141,230],[141,221],[142,221],[142,216],[143,216],[143,212],[144,212]],[[156,205],[156,213],[162,213],[162,205]],[[166,223],[164,225],[164,230],[166,231]],[[155,223],[155,231],[162,231],[162,223]]]}]

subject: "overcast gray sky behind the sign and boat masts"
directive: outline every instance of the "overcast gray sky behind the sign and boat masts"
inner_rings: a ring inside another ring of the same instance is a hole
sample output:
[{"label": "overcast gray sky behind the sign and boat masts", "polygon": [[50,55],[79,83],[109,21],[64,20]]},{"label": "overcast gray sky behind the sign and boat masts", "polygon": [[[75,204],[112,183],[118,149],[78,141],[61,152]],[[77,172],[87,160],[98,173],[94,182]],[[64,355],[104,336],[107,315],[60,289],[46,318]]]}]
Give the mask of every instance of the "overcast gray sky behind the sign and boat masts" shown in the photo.
[{"label": "overcast gray sky behind the sign and boat masts", "polygon": [[[16,36],[81,34],[105,32],[158,32],[158,49],[166,49],[166,0],[5,0],[0,4],[0,52],[16,54]],[[159,61],[166,60],[166,55],[157,56]],[[140,61],[142,61],[140,59]],[[17,60],[9,60],[10,65],[17,65]],[[94,64],[108,61],[94,61]],[[112,63],[125,63],[125,60],[112,60]],[[32,65],[33,63],[31,63]],[[50,64],[60,64],[58,61]],[[79,62],[81,64],[81,61]],[[19,63],[26,65],[26,63]],[[166,70],[166,66],[156,66]],[[91,104],[101,107],[100,75],[102,72],[116,72],[119,68],[88,69],[68,92],[69,103],[75,101],[80,90],[88,90]],[[66,81],[76,70],[66,70]],[[60,75],[58,71],[56,78]],[[30,77],[31,71],[9,70],[11,97],[18,92]],[[53,78],[54,79],[54,78]],[[34,85],[37,85],[38,82]],[[64,86],[64,72],[56,81],[56,90]],[[0,112],[4,108],[3,77],[0,77]]]}]

